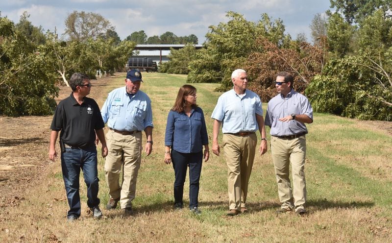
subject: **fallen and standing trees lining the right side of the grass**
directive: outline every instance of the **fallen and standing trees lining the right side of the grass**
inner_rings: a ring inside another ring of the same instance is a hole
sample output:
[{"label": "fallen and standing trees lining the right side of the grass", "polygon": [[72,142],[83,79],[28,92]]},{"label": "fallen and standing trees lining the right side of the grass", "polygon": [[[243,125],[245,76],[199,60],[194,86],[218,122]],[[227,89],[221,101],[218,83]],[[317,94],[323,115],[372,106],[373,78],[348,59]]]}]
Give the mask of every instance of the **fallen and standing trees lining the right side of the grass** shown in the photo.
[{"label": "fallen and standing trees lining the right side of the grass", "polygon": [[231,72],[243,68],[263,101],[276,95],[276,73],[288,71],[317,112],[392,121],[392,1],[330,2],[335,11],[316,14],[310,24],[313,44],[304,34],[285,34],[283,22],[268,14],[252,22],[227,12],[228,22],[209,27],[204,49],[172,50],[161,71],[220,82],[225,91]]}]

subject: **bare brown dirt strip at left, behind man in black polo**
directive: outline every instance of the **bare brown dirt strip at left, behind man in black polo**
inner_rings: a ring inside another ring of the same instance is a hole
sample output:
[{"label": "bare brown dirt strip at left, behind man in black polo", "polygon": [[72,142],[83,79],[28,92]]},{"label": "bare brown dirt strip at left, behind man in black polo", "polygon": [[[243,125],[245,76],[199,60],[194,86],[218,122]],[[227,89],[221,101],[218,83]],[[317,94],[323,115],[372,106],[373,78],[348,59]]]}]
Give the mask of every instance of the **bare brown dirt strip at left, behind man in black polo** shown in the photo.
[{"label": "bare brown dirt strip at left, behind man in black polo", "polygon": [[[91,80],[89,97],[106,96],[103,89],[119,75]],[[57,102],[71,94],[71,88],[59,88]],[[53,163],[48,158],[51,120],[52,116],[0,117],[0,207],[15,205],[15,199],[23,198],[25,190]]]}]

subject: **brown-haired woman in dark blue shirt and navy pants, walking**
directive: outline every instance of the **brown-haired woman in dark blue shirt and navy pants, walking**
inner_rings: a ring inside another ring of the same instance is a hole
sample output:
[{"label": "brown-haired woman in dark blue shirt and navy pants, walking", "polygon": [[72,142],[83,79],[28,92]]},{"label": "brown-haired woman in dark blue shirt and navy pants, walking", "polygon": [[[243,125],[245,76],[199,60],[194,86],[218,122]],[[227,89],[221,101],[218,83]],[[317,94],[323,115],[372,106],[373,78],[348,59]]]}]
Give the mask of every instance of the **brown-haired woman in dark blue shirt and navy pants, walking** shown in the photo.
[{"label": "brown-haired woman in dark blue shirt and navy pants, walking", "polygon": [[208,160],[209,152],[203,110],[196,105],[196,88],[183,85],[169,112],[165,134],[165,163],[172,162],[175,174],[175,209],[183,207],[184,182],[189,167],[189,209],[196,215],[200,214],[197,198],[201,164],[203,158]]}]

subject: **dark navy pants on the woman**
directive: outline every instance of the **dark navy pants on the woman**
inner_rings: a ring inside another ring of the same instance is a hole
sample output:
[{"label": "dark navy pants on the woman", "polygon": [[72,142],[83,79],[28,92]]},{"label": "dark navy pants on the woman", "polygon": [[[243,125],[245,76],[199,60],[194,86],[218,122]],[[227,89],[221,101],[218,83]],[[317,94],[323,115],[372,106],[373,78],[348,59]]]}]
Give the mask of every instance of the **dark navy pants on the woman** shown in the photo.
[{"label": "dark navy pants on the woman", "polygon": [[189,167],[189,208],[198,206],[199,180],[203,152],[180,153],[172,150],[172,164],[174,168],[174,203],[181,203],[184,194],[184,183]]}]

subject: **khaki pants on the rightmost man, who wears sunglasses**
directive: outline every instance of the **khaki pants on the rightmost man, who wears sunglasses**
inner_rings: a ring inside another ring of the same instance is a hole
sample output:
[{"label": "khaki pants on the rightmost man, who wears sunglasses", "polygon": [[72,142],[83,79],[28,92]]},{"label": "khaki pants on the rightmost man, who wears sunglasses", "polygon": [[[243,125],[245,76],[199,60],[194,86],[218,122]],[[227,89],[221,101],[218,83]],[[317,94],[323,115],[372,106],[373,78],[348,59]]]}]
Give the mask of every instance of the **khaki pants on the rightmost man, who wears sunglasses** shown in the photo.
[{"label": "khaki pants on the rightmost man, who wears sunglasses", "polygon": [[[299,208],[305,209],[305,135],[294,139],[281,139],[271,136],[271,154],[282,208],[294,208],[295,211]],[[290,162],[293,172],[293,190],[289,177]]]}]

